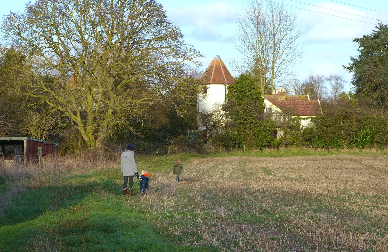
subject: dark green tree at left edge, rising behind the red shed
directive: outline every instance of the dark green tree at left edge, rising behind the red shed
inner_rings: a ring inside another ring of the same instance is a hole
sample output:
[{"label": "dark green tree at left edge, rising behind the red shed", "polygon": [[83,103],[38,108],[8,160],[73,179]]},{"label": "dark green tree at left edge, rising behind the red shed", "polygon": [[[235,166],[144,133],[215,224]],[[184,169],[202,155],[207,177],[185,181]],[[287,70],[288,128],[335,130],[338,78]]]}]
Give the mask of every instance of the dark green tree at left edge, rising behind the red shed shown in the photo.
[{"label": "dark green tree at left edge, rising behind the red shed", "polygon": [[[33,90],[28,84],[36,81],[28,74],[27,58],[14,46],[0,48],[0,136],[54,140],[65,119],[47,109],[47,104],[25,95]],[[53,83],[55,77],[46,81]]]}]

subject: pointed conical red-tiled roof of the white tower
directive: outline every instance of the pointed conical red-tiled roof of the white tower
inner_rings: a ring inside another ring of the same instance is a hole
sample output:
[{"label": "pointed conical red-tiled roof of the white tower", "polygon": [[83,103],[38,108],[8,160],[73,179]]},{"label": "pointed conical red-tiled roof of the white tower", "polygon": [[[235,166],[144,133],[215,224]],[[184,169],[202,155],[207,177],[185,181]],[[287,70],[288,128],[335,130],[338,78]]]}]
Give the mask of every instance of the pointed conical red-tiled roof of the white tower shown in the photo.
[{"label": "pointed conical red-tiled roof of the white tower", "polygon": [[216,55],[202,75],[202,81],[206,84],[233,84],[234,78],[220,56]]}]

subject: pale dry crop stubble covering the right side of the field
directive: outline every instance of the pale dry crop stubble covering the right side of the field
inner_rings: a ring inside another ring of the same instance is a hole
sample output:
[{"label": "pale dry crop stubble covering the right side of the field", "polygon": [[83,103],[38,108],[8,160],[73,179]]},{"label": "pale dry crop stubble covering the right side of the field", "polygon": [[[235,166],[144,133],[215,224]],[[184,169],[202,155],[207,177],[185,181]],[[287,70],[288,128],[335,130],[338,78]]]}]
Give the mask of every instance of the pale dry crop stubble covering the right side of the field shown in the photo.
[{"label": "pale dry crop stubble covering the right side of the field", "polygon": [[[178,243],[223,251],[388,251],[388,157],[192,160],[152,174],[144,206]],[[197,181],[196,181],[197,180]]]}]

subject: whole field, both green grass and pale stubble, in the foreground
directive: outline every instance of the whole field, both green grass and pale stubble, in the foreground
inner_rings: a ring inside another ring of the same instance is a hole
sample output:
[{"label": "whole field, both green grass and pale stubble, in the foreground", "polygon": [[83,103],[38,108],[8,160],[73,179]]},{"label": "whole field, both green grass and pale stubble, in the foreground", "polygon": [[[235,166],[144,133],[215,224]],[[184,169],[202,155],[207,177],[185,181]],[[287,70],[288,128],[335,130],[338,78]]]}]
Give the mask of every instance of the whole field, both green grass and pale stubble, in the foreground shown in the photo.
[{"label": "whole field, both green grass and pale stubble, in the foreground", "polygon": [[0,206],[0,251],[388,251],[388,156],[347,153],[185,155],[180,183],[142,156],[142,197],[115,166],[38,174]]}]

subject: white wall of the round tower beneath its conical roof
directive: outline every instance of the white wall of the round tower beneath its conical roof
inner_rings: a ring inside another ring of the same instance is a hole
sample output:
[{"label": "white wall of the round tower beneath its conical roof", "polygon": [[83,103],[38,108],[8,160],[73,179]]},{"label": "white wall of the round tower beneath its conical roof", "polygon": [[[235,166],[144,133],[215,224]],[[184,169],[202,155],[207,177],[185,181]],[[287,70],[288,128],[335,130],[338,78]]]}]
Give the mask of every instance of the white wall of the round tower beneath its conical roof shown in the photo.
[{"label": "white wall of the round tower beneath its conical roof", "polygon": [[208,84],[208,94],[202,98],[198,94],[198,112],[210,112],[216,104],[224,104],[227,87],[224,84]]}]

